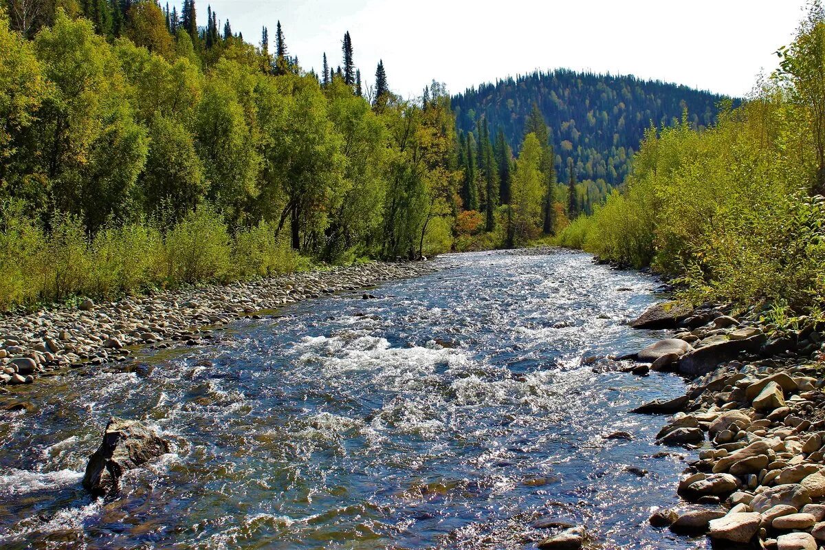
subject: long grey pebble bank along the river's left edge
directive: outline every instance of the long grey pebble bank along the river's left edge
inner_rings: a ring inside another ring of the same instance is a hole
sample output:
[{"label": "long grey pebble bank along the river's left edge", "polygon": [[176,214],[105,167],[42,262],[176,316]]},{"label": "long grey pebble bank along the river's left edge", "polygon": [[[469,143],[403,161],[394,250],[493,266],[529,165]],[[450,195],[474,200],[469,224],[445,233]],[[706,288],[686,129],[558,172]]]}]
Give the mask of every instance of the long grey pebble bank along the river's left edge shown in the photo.
[{"label": "long grey pebble bank along the river's left edge", "polygon": [[214,337],[210,327],[238,317],[255,317],[303,299],[365,289],[432,269],[428,262],[373,262],[114,303],[96,304],[87,299],[78,308],[7,315],[0,318],[0,393],[54,376],[67,367],[128,363],[132,346],[198,345]]}]

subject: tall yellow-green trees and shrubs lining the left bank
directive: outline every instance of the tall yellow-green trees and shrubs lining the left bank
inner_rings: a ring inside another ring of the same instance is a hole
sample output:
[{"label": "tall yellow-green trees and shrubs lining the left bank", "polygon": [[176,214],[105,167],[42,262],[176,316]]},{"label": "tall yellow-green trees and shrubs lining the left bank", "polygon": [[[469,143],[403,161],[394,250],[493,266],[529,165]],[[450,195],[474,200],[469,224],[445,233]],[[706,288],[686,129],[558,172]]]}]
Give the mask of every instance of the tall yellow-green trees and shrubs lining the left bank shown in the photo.
[{"label": "tall yellow-green trees and shrubs lining the left bank", "polygon": [[194,0],[33,5],[0,9],[0,308],[450,249],[440,85],[362,90],[349,33],[307,73],[280,24],[270,53]]}]

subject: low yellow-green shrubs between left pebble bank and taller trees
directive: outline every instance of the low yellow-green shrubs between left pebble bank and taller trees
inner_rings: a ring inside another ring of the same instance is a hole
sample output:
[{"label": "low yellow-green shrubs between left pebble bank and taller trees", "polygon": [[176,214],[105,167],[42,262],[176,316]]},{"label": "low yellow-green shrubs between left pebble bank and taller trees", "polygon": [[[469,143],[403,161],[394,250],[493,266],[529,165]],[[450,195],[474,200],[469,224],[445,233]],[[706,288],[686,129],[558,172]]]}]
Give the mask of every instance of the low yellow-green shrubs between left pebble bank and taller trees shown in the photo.
[{"label": "low yellow-green shrubs between left pebble bank and taller trees", "polygon": [[[94,237],[59,214],[49,228],[9,207],[0,211],[0,310],[34,308],[76,296],[115,299],[154,288],[266,277],[306,269],[285,234],[268,223],[234,237],[214,209],[201,207],[163,232],[153,223],[108,225]],[[288,232],[288,228],[287,228]]]}]

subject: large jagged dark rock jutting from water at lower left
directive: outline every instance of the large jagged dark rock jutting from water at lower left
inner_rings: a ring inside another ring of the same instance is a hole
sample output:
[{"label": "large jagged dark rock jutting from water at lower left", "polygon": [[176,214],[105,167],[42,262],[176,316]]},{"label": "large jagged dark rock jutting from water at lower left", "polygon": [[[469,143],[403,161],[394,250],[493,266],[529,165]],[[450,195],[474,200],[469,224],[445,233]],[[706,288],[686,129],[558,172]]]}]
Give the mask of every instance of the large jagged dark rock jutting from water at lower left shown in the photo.
[{"label": "large jagged dark rock jutting from water at lower left", "polygon": [[126,470],[168,452],[168,442],[143,422],[113,416],[101,446],[89,457],[83,487],[96,496],[116,491]]}]

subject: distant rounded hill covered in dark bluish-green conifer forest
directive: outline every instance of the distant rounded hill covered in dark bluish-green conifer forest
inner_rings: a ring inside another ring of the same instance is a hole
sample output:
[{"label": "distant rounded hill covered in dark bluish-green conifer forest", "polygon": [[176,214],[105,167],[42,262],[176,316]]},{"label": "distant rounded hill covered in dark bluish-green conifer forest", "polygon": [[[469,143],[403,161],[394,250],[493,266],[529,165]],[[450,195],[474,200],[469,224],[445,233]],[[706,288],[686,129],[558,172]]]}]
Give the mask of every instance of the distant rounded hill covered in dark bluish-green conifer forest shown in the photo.
[{"label": "distant rounded hill covered in dark bluish-green conifer forest", "polygon": [[577,181],[602,187],[599,180],[610,186],[624,181],[651,122],[673,125],[687,109],[692,125],[708,126],[722,99],[666,82],[557,69],[482,84],[454,96],[452,105],[459,129],[474,131],[483,116],[493,133],[503,129],[517,146],[535,102],[550,127],[559,181],[567,181],[573,158]]}]

